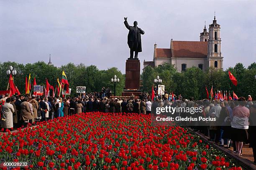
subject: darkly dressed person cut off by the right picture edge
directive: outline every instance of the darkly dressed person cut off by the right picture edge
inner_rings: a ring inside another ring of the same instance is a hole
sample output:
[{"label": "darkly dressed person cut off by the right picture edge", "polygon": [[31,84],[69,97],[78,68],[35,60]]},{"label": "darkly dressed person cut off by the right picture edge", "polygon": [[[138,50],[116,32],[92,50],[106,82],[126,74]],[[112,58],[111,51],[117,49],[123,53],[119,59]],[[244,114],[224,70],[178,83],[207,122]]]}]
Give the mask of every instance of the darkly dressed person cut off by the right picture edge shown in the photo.
[{"label": "darkly dressed person cut off by the right picture edge", "polygon": [[256,163],[256,103],[254,103],[253,107],[250,109],[249,123],[248,141],[253,150],[254,163]]}]

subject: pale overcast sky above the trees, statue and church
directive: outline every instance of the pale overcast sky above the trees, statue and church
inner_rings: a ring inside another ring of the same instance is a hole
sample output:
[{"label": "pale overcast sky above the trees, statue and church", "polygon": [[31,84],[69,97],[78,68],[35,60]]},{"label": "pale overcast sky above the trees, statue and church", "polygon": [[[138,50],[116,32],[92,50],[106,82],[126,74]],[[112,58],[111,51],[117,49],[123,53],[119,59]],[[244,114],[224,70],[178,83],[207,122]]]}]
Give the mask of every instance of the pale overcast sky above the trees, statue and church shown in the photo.
[{"label": "pale overcast sky above the trees, statue and church", "polygon": [[153,60],[154,43],[199,41],[214,11],[220,24],[224,70],[256,61],[255,0],[0,0],[0,62],[49,61],[118,67],[125,73],[128,30],[138,21],[143,60]]}]

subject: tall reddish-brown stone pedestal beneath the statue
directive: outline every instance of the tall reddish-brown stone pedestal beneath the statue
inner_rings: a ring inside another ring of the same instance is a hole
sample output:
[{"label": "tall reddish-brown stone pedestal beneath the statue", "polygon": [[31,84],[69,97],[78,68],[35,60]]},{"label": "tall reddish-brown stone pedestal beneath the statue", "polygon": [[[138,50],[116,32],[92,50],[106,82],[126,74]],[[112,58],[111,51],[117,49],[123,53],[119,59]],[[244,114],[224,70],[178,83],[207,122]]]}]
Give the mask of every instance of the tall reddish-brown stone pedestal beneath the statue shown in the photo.
[{"label": "tall reddish-brown stone pedestal beneath the statue", "polygon": [[128,59],[125,62],[125,89],[122,96],[138,96],[141,94],[140,90],[140,71],[141,63],[138,59]]}]

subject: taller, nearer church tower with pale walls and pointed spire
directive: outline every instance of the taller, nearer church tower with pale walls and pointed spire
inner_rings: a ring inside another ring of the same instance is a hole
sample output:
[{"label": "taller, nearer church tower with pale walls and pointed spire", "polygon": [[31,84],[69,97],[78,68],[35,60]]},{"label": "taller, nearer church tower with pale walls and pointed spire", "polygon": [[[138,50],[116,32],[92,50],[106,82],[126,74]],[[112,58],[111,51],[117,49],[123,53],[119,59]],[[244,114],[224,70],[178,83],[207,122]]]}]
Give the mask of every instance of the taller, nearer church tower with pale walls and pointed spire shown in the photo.
[{"label": "taller, nearer church tower with pale walls and pointed spire", "polygon": [[209,67],[223,69],[223,57],[221,55],[220,42],[220,25],[217,23],[214,12],[214,20],[212,20],[212,24],[209,25],[209,40],[207,53],[207,65]]}]

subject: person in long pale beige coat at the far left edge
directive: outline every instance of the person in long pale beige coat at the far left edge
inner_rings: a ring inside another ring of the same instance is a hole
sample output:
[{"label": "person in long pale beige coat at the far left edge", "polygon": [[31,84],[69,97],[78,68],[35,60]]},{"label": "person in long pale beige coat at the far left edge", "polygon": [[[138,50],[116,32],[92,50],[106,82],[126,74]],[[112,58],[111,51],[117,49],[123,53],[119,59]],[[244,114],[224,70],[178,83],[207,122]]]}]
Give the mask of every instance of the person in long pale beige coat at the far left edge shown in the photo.
[{"label": "person in long pale beige coat at the far left edge", "polygon": [[6,98],[5,104],[2,107],[3,117],[1,117],[1,120],[2,128],[4,128],[4,131],[6,131],[6,129],[11,130],[11,128],[13,128],[13,113],[15,110],[10,102],[11,98]]}]

